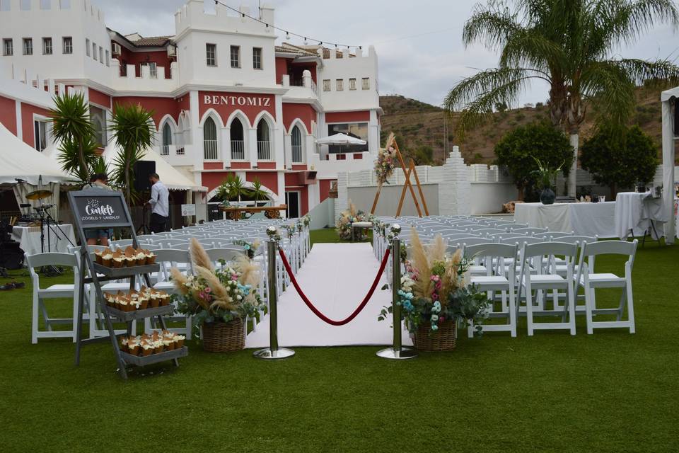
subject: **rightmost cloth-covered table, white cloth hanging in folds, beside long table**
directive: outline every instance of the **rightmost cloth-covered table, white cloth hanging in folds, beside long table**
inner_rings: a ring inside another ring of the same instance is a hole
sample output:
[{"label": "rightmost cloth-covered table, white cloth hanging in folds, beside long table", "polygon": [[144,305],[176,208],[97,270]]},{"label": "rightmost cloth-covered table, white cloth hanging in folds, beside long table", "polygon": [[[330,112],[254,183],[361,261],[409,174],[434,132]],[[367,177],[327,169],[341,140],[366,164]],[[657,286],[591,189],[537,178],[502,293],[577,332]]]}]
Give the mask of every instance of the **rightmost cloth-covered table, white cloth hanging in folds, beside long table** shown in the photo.
[{"label": "rightmost cloth-covered table, white cloth hanging in folds, beside long table", "polygon": [[656,233],[663,236],[666,217],[663,199],[654,198],[650,192],[621,192],[615,197],[615,236],[620,239],[627,239],[632,230],[634,236],[643,236],[651,224],[654,226],[651,228],[654,238]]}]

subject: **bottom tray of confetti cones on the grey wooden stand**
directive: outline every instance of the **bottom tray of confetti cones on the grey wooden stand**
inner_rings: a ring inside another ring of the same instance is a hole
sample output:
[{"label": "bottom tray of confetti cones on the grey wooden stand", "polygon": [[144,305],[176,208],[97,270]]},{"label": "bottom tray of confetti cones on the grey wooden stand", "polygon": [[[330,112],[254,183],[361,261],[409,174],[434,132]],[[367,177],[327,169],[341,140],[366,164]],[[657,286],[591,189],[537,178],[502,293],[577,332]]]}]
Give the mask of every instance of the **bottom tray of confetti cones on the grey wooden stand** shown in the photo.
[{"label": "bottom tray of confetti cones on the grey wooden stand", "polygon": [[170,331],[153,331],[151,335],[124,336],[120,340],[120,352],[125,362],[144,366],[151,363],[185,357],[189,348],[184,345],[185,336]]}]

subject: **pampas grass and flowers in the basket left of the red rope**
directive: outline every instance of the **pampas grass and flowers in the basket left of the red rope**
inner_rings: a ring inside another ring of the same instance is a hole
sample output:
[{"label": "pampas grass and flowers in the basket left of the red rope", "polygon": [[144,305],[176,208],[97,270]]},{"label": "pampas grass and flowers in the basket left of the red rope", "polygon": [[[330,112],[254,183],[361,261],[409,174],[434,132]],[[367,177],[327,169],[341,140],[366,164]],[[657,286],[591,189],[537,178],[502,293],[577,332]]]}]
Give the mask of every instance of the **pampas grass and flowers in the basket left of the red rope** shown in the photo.
[{"label": "pampas grass and flowers in the basket left of the red rope", "polygon": [[191,241],[190,254],[195,274],[187,276],[177,268],[170,274],[179,293],[173,295],[178,311],[193,317],[197,336],[204,323],[229,323],[248,316],[258,320],[260,311],[267,311],[257,292],[259,267],[247,256],[236,260],[233,267],[221,261],[221,266],[214,268],[196,239]]}]

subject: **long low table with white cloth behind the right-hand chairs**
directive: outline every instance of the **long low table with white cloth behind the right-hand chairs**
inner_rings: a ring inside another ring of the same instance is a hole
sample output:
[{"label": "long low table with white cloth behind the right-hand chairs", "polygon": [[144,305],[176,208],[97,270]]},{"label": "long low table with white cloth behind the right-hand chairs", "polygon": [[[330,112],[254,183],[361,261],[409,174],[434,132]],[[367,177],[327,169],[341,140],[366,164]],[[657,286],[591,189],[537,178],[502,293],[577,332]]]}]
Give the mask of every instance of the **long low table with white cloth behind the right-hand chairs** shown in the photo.
[{"label": "long low table with white cloth behind the right-hand chairs", "polygon": [[613,238],[615,202],[600,203],[516,203],[514,220],[550,231],[573,231],[578,236]]}]

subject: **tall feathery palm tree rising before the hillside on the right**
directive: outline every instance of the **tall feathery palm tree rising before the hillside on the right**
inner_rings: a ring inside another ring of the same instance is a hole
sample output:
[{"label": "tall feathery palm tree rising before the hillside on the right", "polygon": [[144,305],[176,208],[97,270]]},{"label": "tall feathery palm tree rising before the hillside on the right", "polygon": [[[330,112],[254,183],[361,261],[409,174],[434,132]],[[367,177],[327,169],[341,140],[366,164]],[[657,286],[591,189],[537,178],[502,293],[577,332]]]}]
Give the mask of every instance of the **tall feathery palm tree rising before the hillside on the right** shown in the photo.
[{"label": "tall feathery palm tree rising before the hillside on the right", "polygon": [[496,104],[511,105],[530,84],[550,86],[550,119],[570,135],[574,159],[569,195],[575,195],[580,125],[596,102],[597,120],[622,124],[634,112],[634,87],[679,80],[668,60],[615,58],[618,46],[637,40],[660,22],[679,25],[671,0],[514,0],[477,6],[463,42],[500,52],[497,68],[463,79],[446,96],[461,110],[458,137],[486,119]]}]

